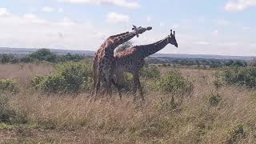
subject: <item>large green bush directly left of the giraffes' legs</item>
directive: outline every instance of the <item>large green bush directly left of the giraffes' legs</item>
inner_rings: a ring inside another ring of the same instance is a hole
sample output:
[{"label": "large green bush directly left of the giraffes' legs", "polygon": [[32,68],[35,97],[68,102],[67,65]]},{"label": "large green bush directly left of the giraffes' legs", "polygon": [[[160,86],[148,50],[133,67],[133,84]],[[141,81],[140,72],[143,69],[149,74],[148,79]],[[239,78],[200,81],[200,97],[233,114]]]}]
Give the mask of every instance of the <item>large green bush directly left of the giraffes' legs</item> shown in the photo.
[{"label": "large green bush directly left of the giraffes' legs", "polygon": [[89,90],[91,84],[89,62],[65,62],[57,65],[49,76],[38,76],[31,81],[35,89],[50,93],[77,93],[79,90]]}]

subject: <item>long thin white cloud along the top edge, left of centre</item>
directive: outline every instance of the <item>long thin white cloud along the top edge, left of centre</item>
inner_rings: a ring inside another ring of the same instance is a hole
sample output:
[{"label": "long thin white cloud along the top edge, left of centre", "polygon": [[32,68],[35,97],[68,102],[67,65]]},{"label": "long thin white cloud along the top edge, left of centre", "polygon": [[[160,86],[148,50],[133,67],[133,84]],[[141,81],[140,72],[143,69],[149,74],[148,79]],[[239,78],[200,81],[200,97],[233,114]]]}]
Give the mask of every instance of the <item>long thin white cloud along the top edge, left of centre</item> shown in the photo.
[{"label": "long thin white cloud along the top edge, left of centre", "polygon": [[128,0],[58,0],[58,2],[69,3],[92,3],[92,4],[110,4],[114,6],[122,6],[130,9],[138,9],[140,7],[138,2],[128,2]]}]

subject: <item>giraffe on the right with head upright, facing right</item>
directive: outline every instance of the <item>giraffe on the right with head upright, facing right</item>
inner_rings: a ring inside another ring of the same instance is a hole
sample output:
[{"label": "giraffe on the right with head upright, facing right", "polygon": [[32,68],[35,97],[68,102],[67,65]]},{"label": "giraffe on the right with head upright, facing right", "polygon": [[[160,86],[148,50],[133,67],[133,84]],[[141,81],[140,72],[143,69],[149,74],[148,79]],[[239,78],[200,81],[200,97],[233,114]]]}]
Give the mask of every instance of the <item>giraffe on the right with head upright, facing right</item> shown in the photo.
[{"label": "giraffe on the right with head upright, facing right", "polygon": [[122,75],[124,72],[128,72],[133,75],[133,93],[135,94],[136,91],[139,90],[142,101],[145,100],[139,80],[139,71],[145,64],[144,58],[157,53],[168,44],[178,47],[175,31],[173,33],[172,30],[170,30],[170,35],[158,42],[154,42],[150,45],[133,46],[129,50],[119,51],[115,54],[116,66],[114,68],[114,74],[116,75],[117,82],[113,83],[114,86],[118,88],[120,98],[122,98],[120,87],[120,84],[122,83]]}]

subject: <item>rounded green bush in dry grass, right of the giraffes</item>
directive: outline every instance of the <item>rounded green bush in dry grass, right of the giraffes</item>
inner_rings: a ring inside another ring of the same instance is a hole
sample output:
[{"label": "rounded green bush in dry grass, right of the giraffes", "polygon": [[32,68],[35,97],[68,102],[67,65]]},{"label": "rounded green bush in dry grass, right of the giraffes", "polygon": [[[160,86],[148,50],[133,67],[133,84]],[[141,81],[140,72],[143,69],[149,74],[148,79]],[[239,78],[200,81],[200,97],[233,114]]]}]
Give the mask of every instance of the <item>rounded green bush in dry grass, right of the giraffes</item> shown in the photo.
[{"label": "rounded green bush in dry grass, right of the giraffes", "polygon": [[159,78],[155,82],[155,87],[170,94],[190,94],[193,90],[192,82],[183,78],[178,71],[170,71],[165,77]]}]

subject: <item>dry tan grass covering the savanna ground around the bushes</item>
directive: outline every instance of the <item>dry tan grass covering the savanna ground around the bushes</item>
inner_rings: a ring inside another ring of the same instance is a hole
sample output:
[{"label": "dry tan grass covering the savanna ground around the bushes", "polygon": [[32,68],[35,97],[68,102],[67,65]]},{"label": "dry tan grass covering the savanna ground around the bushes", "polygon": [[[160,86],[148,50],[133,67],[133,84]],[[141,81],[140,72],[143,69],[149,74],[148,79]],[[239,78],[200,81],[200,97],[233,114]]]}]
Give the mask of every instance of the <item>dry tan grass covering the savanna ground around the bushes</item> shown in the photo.
[{"label": "dry tan grass covering the savanna ground around the bushes", "polygon": [[[166,74],[173,68],[161,68]],[[21,86],[50,65],[0,65],[0,78]],[[214,70],[176,69],[194,83],[190,95],[162,94],[146,82],[146,102],[115,95],[89,102],[89,94],[7,94],[18,124],[0,124],[0,142],[52,143],[256,143],[256,91],[214,86]],[[25,86],[24,86],[25,87]],[[172,97],[174,96],[174,97]]]}]

